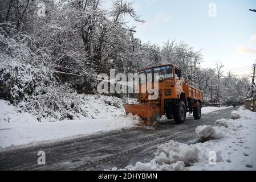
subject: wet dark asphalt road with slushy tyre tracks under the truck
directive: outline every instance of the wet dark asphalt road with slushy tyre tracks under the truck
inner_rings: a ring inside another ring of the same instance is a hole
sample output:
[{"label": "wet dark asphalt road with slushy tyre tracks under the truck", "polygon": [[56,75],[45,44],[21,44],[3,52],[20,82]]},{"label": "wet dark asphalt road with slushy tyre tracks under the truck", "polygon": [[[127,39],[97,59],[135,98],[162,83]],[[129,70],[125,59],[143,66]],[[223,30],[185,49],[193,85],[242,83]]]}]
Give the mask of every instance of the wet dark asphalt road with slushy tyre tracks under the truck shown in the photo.
[{"label": "wet dark asphalt road with slushy tyre tracks under the truck", "polygon": [[[161,121],[157,130],[132,128],[1,152],[0,170],[102,170],[149,162],[157,145],[193,140],[197,126],[214,125],[217,119],[229,118],[232,110],[202,114],[200,120],[189,117],[180,125],[173,119]],[[45,152],[46,165],[38,164],[38,151]]]}]

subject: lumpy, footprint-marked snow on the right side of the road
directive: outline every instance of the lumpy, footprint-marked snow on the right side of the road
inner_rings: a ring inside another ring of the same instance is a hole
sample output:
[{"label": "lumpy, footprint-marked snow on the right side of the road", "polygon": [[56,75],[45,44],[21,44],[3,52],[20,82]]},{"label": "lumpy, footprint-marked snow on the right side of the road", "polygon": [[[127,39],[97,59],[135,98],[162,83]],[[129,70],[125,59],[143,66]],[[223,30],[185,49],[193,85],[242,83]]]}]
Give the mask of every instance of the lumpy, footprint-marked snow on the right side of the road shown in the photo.
[{"label": "lumpy, footprint-marked snow on the right side of the road", "polygon": [[[239,119],[219,119],[216,126],[198,126],[196,144],[171,140],[157,147],[151,162],[137,162],[120,170],[255,170],[256,113],[241,107],[233,115]],[[216,164],[209,163],[215,154]]]}]

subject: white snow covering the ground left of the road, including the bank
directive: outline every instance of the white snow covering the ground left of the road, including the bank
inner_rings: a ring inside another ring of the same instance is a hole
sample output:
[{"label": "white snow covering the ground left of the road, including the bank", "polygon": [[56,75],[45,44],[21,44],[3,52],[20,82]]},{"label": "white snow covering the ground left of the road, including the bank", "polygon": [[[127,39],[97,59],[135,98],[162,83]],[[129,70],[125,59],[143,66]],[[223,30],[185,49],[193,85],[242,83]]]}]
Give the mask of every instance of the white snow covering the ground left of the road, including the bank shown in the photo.
[{"label": "white snow covering the ground left of the road, including the bank", "polygon": [[[96,115],[95,111],[92,112],[97,119],[38,122],[36,116],[30,113],[20,113],[8,101],[0,100],[0,150],[125,129],[137,126],[141,122],[138,117],[132,115],[126,117],[121,109],[117,107],[113,109],[115,106],[111,104],[105,105],[109,111],[100,109],[104,105],[100,101],[92,100],[91,105],[98,108],[99,112],[103,112],[102,115]],[[114,112],[111,113],[111,110]]]}]

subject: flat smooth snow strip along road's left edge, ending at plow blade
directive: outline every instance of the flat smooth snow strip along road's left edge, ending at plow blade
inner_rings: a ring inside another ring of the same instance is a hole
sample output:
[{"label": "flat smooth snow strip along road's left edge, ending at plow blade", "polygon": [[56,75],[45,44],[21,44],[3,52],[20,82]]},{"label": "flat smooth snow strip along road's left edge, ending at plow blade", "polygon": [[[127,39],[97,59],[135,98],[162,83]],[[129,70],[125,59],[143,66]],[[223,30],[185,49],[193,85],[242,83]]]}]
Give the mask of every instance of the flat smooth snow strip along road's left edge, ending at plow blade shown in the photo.
[{"label": "flat smooth snow strip along road's left edge, ending at plow blade", "polygon": [[0,151],[74,139],[99,132],[127,129],[135,127],[138,123],[139,119],[137,117],[125,117],[123,115],[108,119],[38,122],[17,124],[10,127],[5,125],[5,127],[0,127]]}]

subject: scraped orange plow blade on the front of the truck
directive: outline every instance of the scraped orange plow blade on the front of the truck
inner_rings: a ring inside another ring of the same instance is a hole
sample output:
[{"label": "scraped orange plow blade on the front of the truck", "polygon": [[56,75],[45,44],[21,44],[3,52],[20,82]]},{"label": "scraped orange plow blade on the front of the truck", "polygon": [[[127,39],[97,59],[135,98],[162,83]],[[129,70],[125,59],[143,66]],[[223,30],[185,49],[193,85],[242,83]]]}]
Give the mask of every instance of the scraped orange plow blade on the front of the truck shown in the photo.
[{"label": "scraped orange plow blade on the front of the truck", "polygon": [[158,127],[160,122],[160,109],[156,104],[129,104],[124,105],[125,113],[137,115],[146,126]]}]

